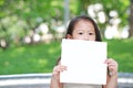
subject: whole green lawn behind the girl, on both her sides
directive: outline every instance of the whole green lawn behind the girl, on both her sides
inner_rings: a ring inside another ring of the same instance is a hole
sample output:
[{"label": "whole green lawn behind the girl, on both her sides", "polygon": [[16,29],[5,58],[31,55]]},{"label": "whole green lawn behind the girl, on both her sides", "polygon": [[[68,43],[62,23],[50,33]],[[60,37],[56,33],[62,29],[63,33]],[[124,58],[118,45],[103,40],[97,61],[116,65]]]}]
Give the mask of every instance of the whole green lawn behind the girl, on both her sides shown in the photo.
[{"label": "whole green lawn behind the girl, on both her sides", "polygon": [[[119,72],[133,73],[133,40],[105,40],[105,42],[108,56],[119,63]],[[51,73],[60,52],[60,42],[0,51],[0,75]]]}]

